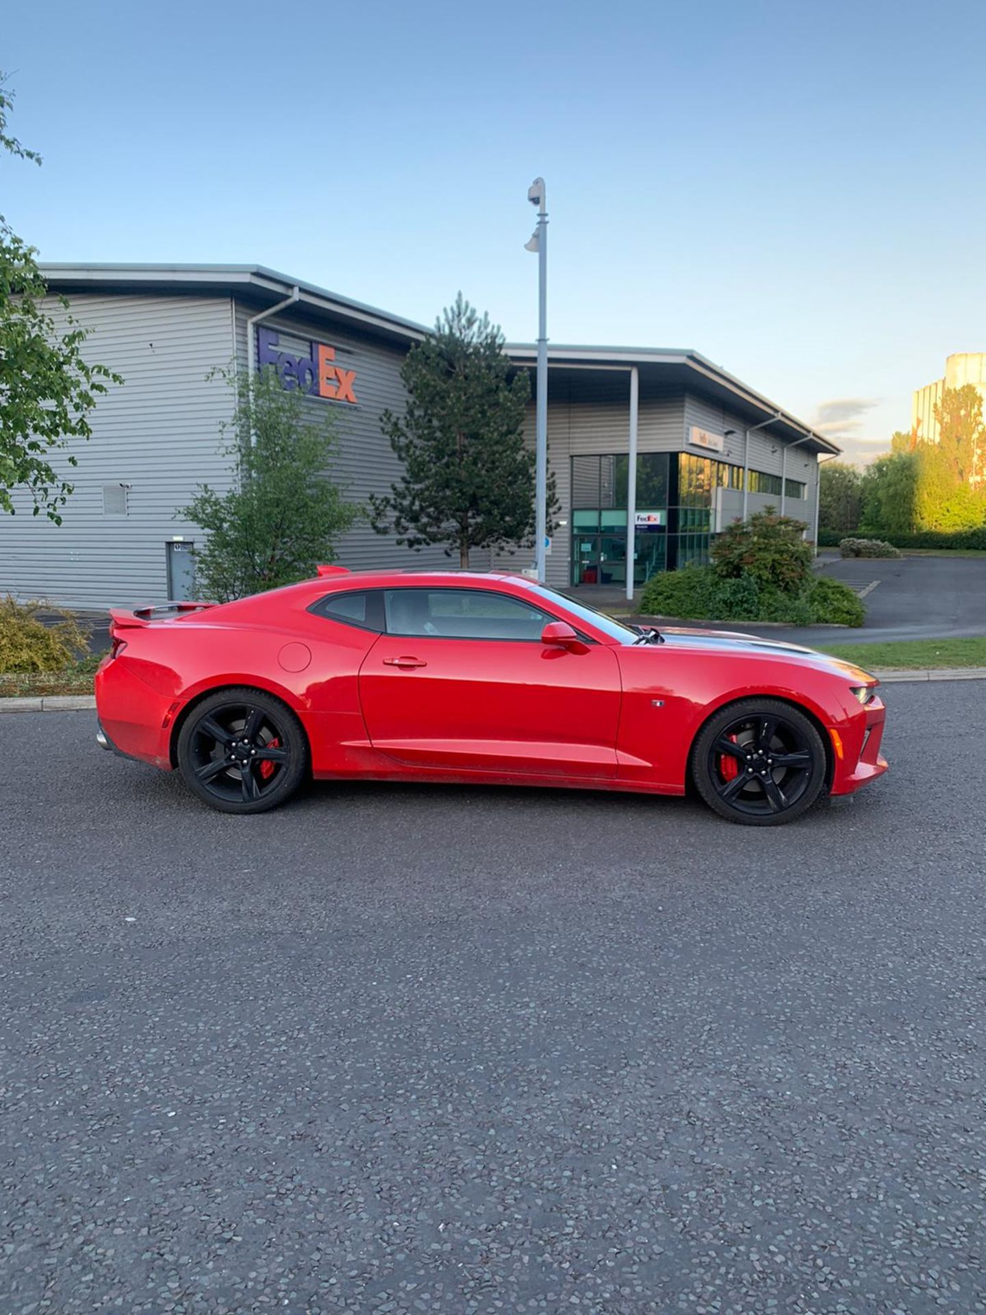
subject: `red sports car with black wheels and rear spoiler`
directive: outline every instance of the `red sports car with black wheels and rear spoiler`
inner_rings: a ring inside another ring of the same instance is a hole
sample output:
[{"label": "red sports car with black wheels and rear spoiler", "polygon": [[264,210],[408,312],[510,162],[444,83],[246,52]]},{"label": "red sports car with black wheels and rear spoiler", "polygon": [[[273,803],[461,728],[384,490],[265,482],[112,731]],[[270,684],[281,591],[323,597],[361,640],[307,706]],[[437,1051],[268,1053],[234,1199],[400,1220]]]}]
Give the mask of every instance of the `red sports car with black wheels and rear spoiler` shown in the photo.
[{"label": "red sports car with black wheels and rear spoiler", "polygon": [[685,794],[790,822],[886,771],[873,676],[793,644],[627,626],[532,580],[360,572],[113,611],[100,743],[225,813],[317,780]]}]

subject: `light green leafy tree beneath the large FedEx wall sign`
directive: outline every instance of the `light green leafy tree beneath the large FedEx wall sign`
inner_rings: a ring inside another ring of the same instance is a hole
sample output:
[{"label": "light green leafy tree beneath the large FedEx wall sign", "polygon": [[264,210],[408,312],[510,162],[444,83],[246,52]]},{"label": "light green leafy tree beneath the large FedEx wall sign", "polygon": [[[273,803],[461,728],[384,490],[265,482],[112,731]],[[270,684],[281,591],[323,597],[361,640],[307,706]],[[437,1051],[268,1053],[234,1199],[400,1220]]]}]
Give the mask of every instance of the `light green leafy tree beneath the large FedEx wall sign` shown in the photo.
[{"label": "light green leafy tree beneath the large FedEx wall sign", "polygon": [[283,388],[271,367],[252,380],[221,375],[235,389],[223,426],[235,483],[227,493],[199,485],[177,518],[208,534],[195,555],[199,596],[227,602],[314,575],[318,563],[334,560],[337,537],[362,509],[327,477],[337,452],[327,409],[313,418],[304,394]]}]

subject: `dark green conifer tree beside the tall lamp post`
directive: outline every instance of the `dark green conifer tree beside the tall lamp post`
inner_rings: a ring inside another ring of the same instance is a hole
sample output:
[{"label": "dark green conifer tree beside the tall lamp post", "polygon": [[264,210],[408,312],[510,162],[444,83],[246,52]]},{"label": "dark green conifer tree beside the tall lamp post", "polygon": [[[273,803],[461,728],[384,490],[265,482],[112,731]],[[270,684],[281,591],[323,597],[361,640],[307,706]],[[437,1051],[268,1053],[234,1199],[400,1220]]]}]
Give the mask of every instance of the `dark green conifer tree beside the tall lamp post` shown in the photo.
[{"label": "dark green conifer tree beside the tall lamp post", "polygon": [[[513,370],[504,335],[461,292],[401,367],[402,416],[384,431],[404,473],[371,498],[371,523],[410,548],[442,544],[469,565],[473,548],[534,540],[534,454],[525,447],[530,384]],[[553,480],[548,514],[556,506]]]}]

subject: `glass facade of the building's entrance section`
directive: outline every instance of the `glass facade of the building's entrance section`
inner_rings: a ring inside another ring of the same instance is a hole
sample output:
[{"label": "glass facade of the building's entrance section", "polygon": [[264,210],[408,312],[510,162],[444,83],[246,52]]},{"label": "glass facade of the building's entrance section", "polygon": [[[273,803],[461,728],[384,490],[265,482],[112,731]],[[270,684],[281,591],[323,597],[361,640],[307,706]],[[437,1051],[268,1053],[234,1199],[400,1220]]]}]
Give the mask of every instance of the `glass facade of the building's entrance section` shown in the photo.
[{"label": "glass facade of the building's entrance section", "polygon": [[[626,454],[572,458],[572,584],[627,581],[628,467]],[[638,454],[635,585],[657,571],[709,560],[719,488],[741,489],[743,467],[694,452]],[[787,480],[786,490],[791,498],[807,492],[797,480]],[[749,492],[780,498],[781,477],[751,471]]]}]

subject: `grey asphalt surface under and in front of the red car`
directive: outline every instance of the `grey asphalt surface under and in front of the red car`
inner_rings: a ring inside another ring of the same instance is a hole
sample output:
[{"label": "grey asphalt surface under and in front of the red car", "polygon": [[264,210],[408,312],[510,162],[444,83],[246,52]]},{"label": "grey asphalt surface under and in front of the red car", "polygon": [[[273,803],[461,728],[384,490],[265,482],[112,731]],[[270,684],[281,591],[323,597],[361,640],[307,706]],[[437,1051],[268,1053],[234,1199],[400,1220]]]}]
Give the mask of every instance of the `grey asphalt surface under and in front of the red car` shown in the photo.
[{"label": "grey asphalt surface under and in front of the red car", "polygon": [[986,681],[776,831],[0,718],[0,1312],[986,1310]]}]

